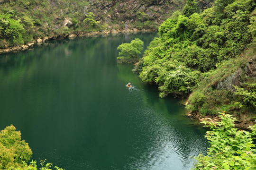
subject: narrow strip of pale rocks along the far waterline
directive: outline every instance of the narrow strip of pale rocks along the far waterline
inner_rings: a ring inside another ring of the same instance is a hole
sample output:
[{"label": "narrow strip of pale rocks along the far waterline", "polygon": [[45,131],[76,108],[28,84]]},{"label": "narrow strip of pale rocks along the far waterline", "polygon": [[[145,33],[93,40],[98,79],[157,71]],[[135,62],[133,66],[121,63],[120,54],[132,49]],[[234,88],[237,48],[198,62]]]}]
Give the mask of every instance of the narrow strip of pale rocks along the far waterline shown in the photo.
[{"label": "narrow strip of pale rocks along the far waterline", "polygon": [[70,33],[70,34],[52,35],[52,36],[38,38],[37,40],[34,40],[27,44],[14,46],[14,47],[2,48],[2,49],[0,49],[0,54],[12,52],[12,51],[27,50],[28,48],[33,47],[35,43],[42,43],[42,42],[46,42],[49,40],[58,40],[58,39],[75,38],[75,37],[100,36],[100,35],[108,35],[108,34],[125,34],[125,33],[133,34],[133,33],[139,33],[139,32],[146,33],[146,32],[154,32],[154,31],[155,30],[152,30],[152,29],[138,30],[136,28],[133,28],[133,29],[124,29],[124,30],[115,30],[114,29],[114,30],[104,30],[104,31],[95,31],[95,32],[75,32],[75,33]]}]

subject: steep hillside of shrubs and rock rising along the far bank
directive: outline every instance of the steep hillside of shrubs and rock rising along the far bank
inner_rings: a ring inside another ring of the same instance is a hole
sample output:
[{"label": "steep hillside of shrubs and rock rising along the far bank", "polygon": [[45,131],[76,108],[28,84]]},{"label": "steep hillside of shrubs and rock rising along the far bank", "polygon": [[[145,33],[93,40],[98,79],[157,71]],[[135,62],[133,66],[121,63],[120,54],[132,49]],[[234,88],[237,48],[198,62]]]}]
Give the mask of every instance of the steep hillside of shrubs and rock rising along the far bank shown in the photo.
[{"label": "steep hillside of shrubs and rock rising along the far bank", "polygon": [[[198,0],[199,10],[212,1]],[[184,5],[185,0],[0,0],[0,49],[89,33],[154,31]]]}]

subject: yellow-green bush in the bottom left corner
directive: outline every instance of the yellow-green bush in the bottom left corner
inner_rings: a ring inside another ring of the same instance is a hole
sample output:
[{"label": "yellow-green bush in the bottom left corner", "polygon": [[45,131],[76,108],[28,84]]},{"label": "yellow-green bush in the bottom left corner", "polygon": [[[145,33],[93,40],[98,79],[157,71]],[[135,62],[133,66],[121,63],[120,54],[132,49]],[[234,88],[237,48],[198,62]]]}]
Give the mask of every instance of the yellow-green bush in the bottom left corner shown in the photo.
[{"label": "yellow-green bush in the bottom left corner", "polygon": [[[37,162],[30,160],[32,151],[28,144],[21,140],[20,131],[11,125],[0,131],[0,170],[37,170]],[[40,170],[52,170],[52,163],[41,161]],[[56,170],[63,170],[54,167]]]}]

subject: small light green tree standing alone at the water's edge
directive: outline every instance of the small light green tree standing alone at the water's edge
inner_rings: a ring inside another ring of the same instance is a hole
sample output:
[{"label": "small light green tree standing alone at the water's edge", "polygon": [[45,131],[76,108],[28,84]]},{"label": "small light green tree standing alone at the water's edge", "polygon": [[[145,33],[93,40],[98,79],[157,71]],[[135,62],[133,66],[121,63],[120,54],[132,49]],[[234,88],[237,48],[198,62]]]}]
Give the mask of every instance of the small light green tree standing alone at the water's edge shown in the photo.
[{"label": "small light green tree standing alone at the water's edge", "polygon": [[132,40],[130,43],[122,43],[118,46],[120,63],[122,62],[136,62],[138,60],[137,55],[141,53],[144,42],[139,38]]}]

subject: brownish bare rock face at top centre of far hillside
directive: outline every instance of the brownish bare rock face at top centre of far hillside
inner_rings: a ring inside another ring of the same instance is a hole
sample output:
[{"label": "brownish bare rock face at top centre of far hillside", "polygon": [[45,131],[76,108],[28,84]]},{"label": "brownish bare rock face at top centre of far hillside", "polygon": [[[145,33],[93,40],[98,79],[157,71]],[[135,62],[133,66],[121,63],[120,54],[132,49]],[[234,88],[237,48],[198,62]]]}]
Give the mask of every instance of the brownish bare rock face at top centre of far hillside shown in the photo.
[{"label": "brownish bare rock face at top centre of far hillside", "polygon": [[[124,24],[123,29],[133,29],[136,22],[146,20],[158,25],[171,16],[174,10],[182,10],[185,0],[168,2],[167,0],[91,0],[89,8],[84,13],[92,12],[96,20],[106,23],[111,28]],[[140,13],[146,18],[138,18]],[[167,15],[169,14],[169,15]],[[113,24],[113,23],[116,23]]]}]

